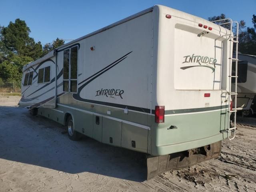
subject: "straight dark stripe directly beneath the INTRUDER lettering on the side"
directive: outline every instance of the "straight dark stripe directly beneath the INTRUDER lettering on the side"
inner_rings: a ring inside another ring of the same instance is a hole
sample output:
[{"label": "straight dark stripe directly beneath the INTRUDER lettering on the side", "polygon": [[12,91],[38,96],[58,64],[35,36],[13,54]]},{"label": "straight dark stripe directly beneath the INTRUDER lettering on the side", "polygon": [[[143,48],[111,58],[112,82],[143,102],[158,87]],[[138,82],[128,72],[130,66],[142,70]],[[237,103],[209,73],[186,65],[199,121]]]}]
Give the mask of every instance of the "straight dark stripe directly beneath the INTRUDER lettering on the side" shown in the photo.
[{"label": "straight dark stripe directly beneath the INTRUDER lettering on the side", "polygon": [[117,107],[117,108],[126,108],[127,107],[128,110],[150,113],[150,109],[142,108],[142,107],[128,106],[128,105],[123,105],[123,104],[109,103],[109,102],[89,100],[89,99],[83,99],[83,98],[80,98],[79,101],[100,104],[100,105],[105,105],[105,106],[111,106],[111,107]]}]

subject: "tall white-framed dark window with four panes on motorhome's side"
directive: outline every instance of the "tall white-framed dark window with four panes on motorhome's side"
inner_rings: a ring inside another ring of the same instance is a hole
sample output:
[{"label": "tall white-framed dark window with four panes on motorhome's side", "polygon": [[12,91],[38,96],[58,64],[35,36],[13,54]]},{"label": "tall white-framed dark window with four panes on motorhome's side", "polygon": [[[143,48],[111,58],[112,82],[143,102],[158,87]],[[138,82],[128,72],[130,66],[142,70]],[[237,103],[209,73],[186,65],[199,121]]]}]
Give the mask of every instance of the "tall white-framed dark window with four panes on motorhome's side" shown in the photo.
[{"label": "tall white-framed dark window with four panes on motorhome's side", "polygon": [[63,92],[77,92],[78,46],[63,53]]}]

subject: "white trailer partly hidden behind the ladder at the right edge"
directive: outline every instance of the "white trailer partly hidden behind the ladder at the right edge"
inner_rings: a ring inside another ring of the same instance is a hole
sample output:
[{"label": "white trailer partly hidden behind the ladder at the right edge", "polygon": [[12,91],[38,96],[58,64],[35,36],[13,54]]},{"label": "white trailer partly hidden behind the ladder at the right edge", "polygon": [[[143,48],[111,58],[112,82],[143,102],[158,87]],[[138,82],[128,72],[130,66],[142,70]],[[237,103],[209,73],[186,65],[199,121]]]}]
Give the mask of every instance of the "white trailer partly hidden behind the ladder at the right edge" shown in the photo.
[{"label": "white trailer partly hidden behind the ladder at the right edge", "polygon": [[[233,75],[235,63],[233,62]],[[235,86],[234,80],[232,86]],[[242,110],[245,116],[255,113],[252,102],[256,95],[256,56],[238,54],[238,79],[237,79],[237,110]]]}]

